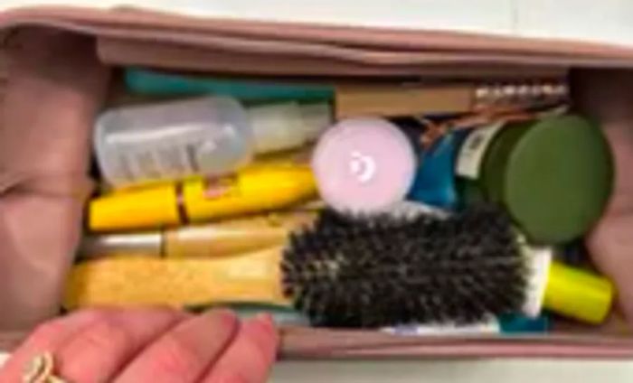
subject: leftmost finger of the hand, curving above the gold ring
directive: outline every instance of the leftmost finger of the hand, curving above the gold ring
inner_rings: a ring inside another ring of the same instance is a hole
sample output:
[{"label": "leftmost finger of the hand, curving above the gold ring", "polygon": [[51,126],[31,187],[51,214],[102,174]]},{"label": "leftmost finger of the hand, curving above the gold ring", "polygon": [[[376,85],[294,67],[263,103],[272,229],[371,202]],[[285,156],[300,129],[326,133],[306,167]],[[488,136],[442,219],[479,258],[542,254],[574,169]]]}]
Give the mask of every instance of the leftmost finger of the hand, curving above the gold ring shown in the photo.
[{"label": "leftmost finger of the hand, curving above the gold ring", "polygon": [[102,314],[100,310],[86,310],[41,325],[14,352],[5,368],[0,369],[0,381],[22,381],[22,374],[29,361],[43,352],[57,350],[74,335],[90,328]]}]

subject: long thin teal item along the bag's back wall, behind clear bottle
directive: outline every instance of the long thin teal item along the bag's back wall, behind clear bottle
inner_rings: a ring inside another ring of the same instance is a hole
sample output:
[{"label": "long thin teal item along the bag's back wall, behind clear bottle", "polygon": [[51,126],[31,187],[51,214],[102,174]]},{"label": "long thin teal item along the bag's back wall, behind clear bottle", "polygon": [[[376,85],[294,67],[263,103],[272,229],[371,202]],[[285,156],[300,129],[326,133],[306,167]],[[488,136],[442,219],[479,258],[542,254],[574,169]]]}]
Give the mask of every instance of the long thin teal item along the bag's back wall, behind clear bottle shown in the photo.
[{"label": "long thin teal item along the bag's back wall, behind clear bottle", "polygon": [[334,89],[329,85],[293,84],[279,80],[230,79],[184,76],[156,70],[125,70],[128,90],[161,96],[195,96],[211,94],[238,98],[241,101],[308,101],[329,102]]}]

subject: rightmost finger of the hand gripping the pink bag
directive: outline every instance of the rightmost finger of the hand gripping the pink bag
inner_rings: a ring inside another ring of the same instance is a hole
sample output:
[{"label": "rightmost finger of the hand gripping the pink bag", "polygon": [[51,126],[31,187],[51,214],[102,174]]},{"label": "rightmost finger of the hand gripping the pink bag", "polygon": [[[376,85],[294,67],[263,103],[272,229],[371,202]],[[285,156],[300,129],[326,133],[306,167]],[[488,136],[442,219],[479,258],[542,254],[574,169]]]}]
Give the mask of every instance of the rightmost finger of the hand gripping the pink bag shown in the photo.
[{"label": "rightmost finger of the hand gripping the pink bag", "polygon": [[277,356],[278,345],[279,335],[269,315],[244,322],[235,341],[215,363],[204,382],[265,382]]}]

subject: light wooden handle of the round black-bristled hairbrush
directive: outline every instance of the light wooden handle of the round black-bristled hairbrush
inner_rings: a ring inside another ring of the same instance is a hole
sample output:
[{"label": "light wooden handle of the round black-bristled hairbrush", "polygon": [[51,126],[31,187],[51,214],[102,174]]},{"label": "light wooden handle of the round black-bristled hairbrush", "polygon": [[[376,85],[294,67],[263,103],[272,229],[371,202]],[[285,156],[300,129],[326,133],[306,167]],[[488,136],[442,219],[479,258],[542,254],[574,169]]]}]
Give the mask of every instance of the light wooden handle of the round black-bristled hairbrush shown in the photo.
[{"label": "light wooden handle of the round black-bristled hairbrush", "polygon": [[289,305],[281,249],[216,258],[108,257],[73,266],[63,306],[258,303]]}]

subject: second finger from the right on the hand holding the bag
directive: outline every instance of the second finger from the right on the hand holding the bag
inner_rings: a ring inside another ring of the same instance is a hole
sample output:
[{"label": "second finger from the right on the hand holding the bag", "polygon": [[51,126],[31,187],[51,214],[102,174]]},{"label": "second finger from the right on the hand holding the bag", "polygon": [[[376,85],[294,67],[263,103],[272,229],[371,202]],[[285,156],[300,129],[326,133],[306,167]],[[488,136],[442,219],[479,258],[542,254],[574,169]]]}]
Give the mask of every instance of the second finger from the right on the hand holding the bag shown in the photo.
[{"label": "second finger from the right on the hand holding the bag", "polygon": [[128,365],[117,383],[190,383],[222,355],[239,327],[234,313],[214,310],[178,324]]}]

